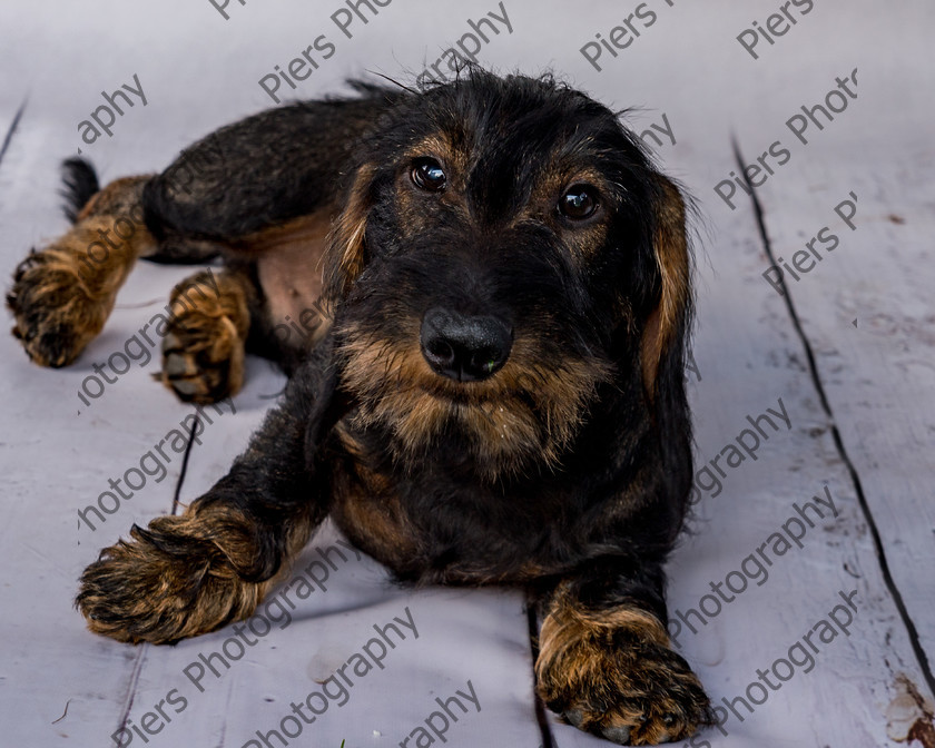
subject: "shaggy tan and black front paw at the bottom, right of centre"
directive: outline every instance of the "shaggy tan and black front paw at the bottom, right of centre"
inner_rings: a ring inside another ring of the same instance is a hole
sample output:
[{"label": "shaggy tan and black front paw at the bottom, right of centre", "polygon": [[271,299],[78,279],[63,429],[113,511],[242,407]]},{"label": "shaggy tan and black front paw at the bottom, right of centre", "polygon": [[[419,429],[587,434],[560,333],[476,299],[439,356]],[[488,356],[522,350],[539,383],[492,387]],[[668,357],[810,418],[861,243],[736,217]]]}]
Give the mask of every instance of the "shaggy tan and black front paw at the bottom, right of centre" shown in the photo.
[{"label": "shaggy tan and black front paw at the bottom, right of centre", "polygon": [[[668,648],[661,624],[633,612],[631,626],[594,619],[551,621],[550,628],[547,619],[537,661],[539,695],[579,729],[619,745],[681,740],[711,724],[708,697],[688,663]],[[656,626],[647,626],[648,619]]]}]

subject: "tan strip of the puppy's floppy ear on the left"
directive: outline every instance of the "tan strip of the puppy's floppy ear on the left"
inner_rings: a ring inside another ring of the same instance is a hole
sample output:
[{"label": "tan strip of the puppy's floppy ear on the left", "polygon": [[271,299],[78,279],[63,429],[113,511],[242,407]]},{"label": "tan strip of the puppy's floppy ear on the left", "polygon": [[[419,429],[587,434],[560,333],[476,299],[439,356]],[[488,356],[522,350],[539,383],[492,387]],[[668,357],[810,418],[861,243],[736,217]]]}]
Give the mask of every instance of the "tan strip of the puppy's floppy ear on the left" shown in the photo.
[{"label": "tan strip of the puppy's floppy ear on the left", "polygon": [[331,305],[347,295],[354,280],[364,269],[367,213],[372,206],[371,186],[374,171],[371,164],[357,168],[351,187],[344,195],[344,209],[328,235],[323,287],[324,297]]}]

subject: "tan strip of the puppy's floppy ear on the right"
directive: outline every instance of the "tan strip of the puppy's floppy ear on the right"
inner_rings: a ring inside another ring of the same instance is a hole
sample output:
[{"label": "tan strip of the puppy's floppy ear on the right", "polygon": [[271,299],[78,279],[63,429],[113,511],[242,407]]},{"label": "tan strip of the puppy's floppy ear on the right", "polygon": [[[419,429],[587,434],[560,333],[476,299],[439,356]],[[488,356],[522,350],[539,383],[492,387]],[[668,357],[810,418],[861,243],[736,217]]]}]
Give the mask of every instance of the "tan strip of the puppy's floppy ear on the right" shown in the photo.
[{"label": "tan strip of the puppy's floppy ear on the right", "polygon": [[659,299],[640,341],[643,385],[650,400],[685,375],[686,337],[691,321],[691,256],[686,234],[685,199],[679,188],[658,175],[653,250],[660,276]]}]

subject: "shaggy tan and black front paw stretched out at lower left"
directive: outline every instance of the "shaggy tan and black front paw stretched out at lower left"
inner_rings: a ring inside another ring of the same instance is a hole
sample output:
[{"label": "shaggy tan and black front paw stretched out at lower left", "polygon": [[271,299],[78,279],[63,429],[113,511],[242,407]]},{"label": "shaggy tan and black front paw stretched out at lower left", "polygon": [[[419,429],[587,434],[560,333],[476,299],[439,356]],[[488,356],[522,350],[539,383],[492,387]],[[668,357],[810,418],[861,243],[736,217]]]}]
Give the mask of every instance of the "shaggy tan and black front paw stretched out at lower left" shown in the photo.
[{"label": "shaggy tan and black front paw stretched out at lower left", "polygon": [[101,551],[76,604],[88,628],[118,641],[170,643],[253,613],[264,584],[245,582],[193,515],[160,516]]}]

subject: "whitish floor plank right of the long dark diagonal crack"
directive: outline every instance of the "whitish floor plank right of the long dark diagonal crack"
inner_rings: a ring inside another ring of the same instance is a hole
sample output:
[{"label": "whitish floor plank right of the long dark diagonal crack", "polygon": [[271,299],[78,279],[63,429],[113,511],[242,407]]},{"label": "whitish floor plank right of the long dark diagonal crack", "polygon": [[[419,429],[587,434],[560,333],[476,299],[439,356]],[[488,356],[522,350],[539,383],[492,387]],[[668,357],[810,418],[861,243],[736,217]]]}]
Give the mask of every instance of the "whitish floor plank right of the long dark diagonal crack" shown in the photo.
[{"label": "whitish floor plank right of the long dark diagonal crack", "polygon": [[[788,121],[798,111],[793,124],[807,129],[800,139],[786,128],[794,158],[758,195],[774,258],[793,265],[785,269],[786,293],[839,432],[835,451],[862,489],[864,522],[856,531],[879,555],[899,609],[893,627],[913,646],[908,662],[899,656],[887,665],[896,680],[905,669],[909,690],[931,698],[935,584],[928,570],[935,563],[935,510],[925,478],[933,468],[926,447],[935,409],[926,331],[933,200],[924,175],[933,154],[926,125],[931,101],[915,91],[931,88],[935,76],[927,63],[929,42],[919,32],[933,20],[933,9],[915,6],[913,11],[879,16],[873,29],[862,24],[850,35],[854,48],[834,60],[819,61],[813,51],[790,58],[784,70],[764,70],[761,86],[768,90],[781,91],[780,76],[808,82],[771,97],[758,121]],[[828,38],[835,22],[819,19],[816,32]],[[899,63],[892,53],[897,47]],[[907,60],[918,65],[906,66]],[[847,96],[831,94],[845,90],[839,78],[847,76]],[[816,104],[827,117],[814,109]],[[762,287],[776,291],[765,282]],[[903,691],[903,686],[889,689],[887,713]],[[906,737],[906,727],[922,717],[918,706],[912,711],[915,717],[903,728],[894,725],[889,737]]]}]

